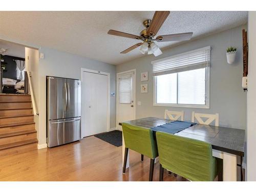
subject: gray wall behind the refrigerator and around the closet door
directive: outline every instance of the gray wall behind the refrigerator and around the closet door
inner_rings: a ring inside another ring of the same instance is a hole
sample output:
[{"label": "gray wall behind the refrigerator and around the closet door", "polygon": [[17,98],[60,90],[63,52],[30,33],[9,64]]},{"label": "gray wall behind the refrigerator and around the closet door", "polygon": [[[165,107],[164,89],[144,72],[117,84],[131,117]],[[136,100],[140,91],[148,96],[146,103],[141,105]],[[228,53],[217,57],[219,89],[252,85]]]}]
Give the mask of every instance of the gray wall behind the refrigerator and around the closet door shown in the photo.
[{"label": "gray wall behind the refrigerator and around the closet door", "polygon": [[[116,91],[116,66],[54,49],[41,48],[39,59],[39,144],[46,143],[46,76],[81,79],[81,68],[110,73],[110,91]],[[110,127],[116,127],[116,98],[110,97]]]}]

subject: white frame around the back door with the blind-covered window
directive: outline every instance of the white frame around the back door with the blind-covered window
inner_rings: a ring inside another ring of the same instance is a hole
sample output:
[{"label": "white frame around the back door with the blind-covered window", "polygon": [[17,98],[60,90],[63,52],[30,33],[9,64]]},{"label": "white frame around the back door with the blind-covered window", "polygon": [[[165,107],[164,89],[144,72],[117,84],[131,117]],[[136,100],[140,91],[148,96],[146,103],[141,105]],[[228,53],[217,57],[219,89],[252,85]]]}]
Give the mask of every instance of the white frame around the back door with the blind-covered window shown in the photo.
[{"label": "white frame around the back door with the blind-covered window", "polygon": [[119,72],[116,74],[116,129],[118,130],[118,101],[119,101],[119,89],[118,89],[118,75],[134,72],[134,119],[136,118],[136,69]]}]

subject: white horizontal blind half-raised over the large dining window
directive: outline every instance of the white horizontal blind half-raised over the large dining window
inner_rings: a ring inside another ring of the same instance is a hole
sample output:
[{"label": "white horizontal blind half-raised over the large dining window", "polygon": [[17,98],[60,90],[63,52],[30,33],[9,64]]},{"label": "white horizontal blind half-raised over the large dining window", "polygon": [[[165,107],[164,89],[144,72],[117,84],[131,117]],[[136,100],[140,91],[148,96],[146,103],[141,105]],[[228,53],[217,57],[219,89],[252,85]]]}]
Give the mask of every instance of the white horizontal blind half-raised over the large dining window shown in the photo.
[{"label": "white horizontal blind half-raised over the large dining window", "polygon": [[153,76],[204,68],[210,62],[210,46],[152,61]]}]

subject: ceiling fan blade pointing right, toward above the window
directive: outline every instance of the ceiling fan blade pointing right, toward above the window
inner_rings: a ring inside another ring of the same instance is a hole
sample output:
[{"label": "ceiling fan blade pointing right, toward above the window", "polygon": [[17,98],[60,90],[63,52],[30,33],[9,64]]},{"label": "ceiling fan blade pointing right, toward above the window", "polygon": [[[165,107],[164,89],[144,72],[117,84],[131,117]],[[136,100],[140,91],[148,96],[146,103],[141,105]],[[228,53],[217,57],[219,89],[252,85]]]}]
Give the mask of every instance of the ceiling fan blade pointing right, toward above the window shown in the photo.
[{"label": "ceiling fan blade pointing right, toward above the window", "polygon": [[193,35],[193,32],[177,33],[177,34],[170,34],[170,35],[159,35],[159,36],[157,36],[156,41],[165,42],[165,41],[190,40],[192,35]]}]

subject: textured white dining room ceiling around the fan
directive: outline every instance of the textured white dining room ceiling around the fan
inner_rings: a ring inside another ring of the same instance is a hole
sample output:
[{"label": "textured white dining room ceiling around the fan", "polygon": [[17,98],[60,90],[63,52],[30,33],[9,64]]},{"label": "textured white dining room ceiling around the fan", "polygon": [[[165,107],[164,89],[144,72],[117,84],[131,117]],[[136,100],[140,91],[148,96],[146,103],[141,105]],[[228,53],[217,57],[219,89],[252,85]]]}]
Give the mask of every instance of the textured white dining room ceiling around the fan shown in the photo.
[{"label": "textured white dining room ceiling around the fan", "polygon": [[[121,51],[140,40],[108,35],[110,29],[139,35],[153,11],[0,12],[0,34],[118,65],[143,56],[138,48]],[[247,23],[247,12],[172,11],[157,35],[194,32],[193,38]],[[162,50],[179,42],[159,42]]]}]

